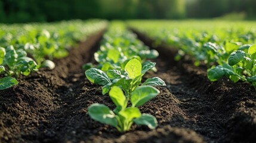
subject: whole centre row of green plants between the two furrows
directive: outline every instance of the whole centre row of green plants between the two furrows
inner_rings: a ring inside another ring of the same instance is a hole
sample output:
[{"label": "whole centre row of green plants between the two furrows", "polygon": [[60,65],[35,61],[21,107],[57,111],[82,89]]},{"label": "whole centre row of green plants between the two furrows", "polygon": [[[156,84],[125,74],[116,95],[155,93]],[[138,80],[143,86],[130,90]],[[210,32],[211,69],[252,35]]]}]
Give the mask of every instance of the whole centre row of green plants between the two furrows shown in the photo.
[{"label": "whole centre row of green plants between the two furrows", "polygon": [[156,118],[141,113],[138,107],[159,94],[153,86],[165,86],[159,77],[143,79],[147,71],[156,70],[156,63],[148,60],[156,57],[158,52],[138,41],[124,23],[113,21],[103,36],[100,50],[94,54],[98,64],[85,64],[84,69],[90,68],[85,71],[87,79],[102,86],[102,94],[108,93],[116,108],[110,110],[104,104],[92,104],[88,107],[90,117],[120,132],[129,130],[133,123],[155,129]]}]

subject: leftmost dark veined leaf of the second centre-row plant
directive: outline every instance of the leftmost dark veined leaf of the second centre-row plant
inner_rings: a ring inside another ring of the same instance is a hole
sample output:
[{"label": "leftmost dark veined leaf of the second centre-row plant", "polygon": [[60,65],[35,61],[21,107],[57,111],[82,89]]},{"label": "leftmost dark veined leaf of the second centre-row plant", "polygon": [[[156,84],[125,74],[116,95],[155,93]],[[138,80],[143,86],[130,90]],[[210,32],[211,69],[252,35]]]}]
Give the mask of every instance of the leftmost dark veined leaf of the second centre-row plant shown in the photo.
[{"label": "leftmost dark veined leaf of the second centre-row plant", "polygon": [[111,83],[107,74],[99,69],[91,68],[85,71],[85,75],[90,82],[98,85],[107,85],[107,83]]}]

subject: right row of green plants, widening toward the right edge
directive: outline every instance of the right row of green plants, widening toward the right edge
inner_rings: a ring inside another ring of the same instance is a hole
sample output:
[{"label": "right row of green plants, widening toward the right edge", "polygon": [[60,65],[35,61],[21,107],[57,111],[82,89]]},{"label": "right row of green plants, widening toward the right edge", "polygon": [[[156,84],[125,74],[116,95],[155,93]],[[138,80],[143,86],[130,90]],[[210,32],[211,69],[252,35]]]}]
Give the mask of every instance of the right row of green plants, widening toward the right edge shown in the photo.
[{"label": "right row of green plants, widening toward the right edge", "polygon": [[212,82],[226,76],[249,82],[256,89],[256,27],[251,21],[129,21],[129,26],[178,48],[175,60],[190,55],[205,64]]}]

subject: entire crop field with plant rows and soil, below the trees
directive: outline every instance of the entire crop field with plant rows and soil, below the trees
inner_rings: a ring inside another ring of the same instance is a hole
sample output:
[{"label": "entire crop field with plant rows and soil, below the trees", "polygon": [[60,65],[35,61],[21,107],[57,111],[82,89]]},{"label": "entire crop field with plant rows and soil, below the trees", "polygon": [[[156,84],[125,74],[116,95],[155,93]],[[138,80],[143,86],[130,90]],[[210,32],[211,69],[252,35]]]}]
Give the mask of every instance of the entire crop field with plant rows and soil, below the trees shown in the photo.
[{"label": "entire crop field with plant rows and soil, below the trees", "polygon": [[254,21],[0,24],[0,47],[0,142],[256,141]]}]

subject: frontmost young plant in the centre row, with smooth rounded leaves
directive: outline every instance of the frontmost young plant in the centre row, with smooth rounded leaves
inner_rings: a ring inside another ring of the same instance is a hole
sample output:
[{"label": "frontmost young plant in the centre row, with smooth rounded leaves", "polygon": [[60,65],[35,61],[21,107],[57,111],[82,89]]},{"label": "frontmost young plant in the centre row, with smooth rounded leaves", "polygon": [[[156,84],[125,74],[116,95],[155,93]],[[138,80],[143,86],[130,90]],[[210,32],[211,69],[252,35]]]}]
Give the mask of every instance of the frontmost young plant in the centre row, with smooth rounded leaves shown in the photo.
[{"label": "frontmost young plant in the centre row, with smooth rounded leaves", "polygon": [[146,125],[150,129],[155,129],[158,122],[151,114],[141,114],[138,106],[159,94],[158,89],[152,86],[140,86],[131,93],[131,107],[127,107],[127,102],[122,89],[113,86],[109,91],[111,100],[116,105],[115,110],[110,110],[104,104],[92,104],[88,108],[88,114],[94,120],[114,126],[119,132],[125,132],[131,128],[132,123]]}]

